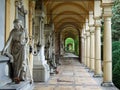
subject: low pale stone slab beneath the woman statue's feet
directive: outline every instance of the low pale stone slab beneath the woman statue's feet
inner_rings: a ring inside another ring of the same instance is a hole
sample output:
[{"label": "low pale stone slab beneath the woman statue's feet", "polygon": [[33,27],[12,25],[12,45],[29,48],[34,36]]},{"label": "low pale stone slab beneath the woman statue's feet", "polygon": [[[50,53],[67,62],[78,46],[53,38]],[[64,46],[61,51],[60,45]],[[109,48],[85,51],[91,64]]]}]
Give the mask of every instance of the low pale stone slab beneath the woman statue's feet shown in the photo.
[{"label": "low pale stone slab beneath the woman statue's feet", "polygon": [[19,84],[15,84],[14,82],[6,84],[3,87],[0,87],[0,90],[32,90],[33,83],[30,81],[22,81]]}]

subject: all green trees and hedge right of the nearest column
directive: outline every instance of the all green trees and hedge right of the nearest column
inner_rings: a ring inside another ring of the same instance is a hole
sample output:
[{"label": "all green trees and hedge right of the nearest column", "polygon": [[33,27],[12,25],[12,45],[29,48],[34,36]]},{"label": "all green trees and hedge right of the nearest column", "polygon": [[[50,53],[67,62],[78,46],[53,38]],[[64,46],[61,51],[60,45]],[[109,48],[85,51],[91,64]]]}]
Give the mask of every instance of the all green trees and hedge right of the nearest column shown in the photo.
[{"label": "all green trees and hedge right of the nearest column", "polygon": [[120,89],[120,0],[115,0],[112,8],[112,60],[113,60],[113,83]]}]

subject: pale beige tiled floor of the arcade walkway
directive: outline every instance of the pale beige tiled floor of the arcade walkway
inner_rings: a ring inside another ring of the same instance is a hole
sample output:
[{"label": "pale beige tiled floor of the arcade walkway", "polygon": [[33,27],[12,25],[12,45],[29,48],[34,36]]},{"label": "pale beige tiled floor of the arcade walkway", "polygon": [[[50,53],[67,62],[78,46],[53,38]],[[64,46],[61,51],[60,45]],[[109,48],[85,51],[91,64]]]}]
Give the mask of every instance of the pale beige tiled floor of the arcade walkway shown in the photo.
[{"label": "pale beige tiled floor of the arcade walkway", "polygon": [[101,87],[102,78],[93,78],[78,60],[61,60],[59,74],[51,76],[46,83],[35,83],[34,90],[118,90]]}]

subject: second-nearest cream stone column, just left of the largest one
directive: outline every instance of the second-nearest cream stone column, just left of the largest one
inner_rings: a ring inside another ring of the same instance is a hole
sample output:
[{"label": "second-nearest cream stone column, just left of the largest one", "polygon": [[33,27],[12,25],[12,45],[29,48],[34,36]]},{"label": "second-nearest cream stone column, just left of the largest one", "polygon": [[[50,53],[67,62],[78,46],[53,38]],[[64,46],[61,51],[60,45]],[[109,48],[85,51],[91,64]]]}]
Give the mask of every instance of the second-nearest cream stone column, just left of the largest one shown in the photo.
[{"label": "second-nearest cream stone column, just left of the largest one", "polygon": [[101,68],[101,22],[100,17],[95,17],[95,73],[94,77],[102,76]]}]

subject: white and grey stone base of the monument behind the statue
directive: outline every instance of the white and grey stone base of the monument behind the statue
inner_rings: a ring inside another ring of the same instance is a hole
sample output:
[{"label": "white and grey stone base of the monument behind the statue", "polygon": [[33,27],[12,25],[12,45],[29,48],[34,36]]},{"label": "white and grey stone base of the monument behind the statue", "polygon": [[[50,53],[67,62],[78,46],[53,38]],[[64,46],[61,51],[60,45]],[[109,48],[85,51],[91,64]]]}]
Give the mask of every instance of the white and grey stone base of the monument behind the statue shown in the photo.
[{"label": "white and grey stone base of the monument behind the statue", "polygon": [[40,60],[40,55],[33,57],[33,80],[46,82],[50,77],[49,65],[45,60]]}]

